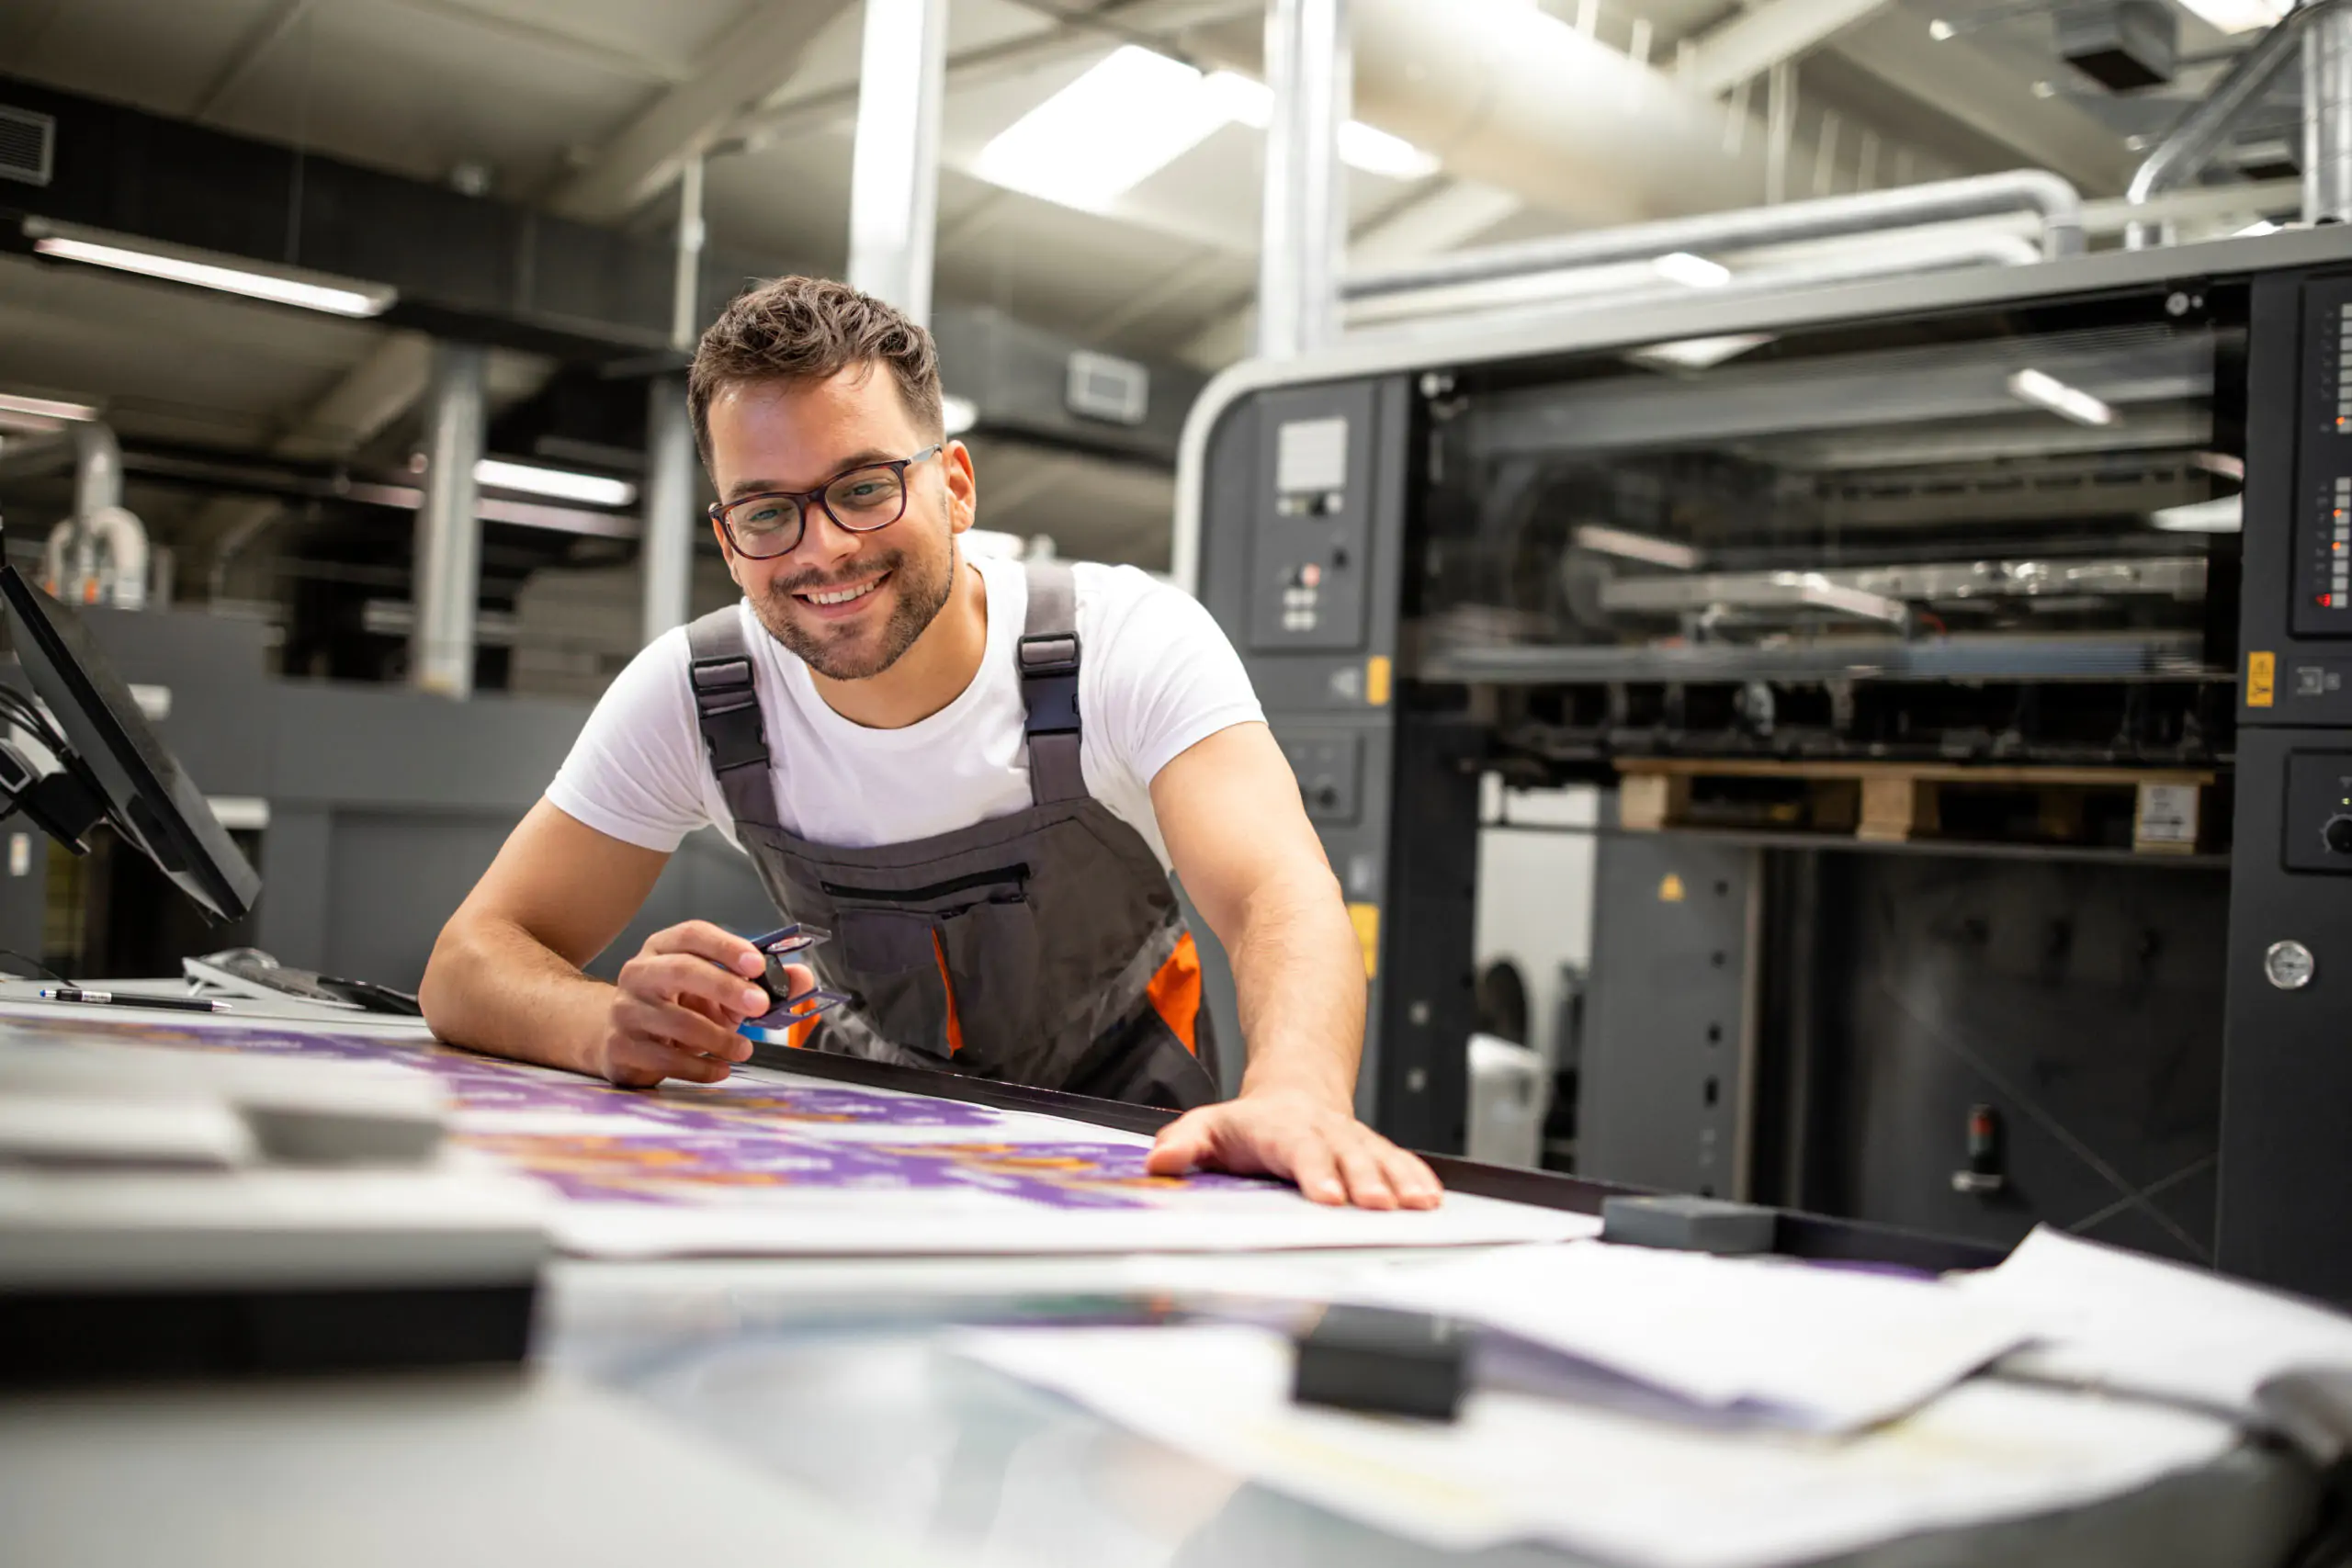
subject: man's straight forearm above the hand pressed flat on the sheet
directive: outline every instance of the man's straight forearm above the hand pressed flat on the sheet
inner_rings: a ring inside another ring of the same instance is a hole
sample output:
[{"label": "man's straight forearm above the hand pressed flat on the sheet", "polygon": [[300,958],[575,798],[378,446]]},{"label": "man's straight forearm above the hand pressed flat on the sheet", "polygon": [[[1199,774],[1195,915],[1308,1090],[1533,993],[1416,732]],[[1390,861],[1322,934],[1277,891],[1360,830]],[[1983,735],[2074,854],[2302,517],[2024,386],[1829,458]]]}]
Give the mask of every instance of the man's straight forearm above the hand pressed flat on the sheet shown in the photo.
[{"label": "man's straight forearm above the hand pressed flat on the sheet", "polygon": [[1232,983],[1249,1070],[1242,1093],[1296,1091],[1348,1110],[1364,1053],[1364,950],[1329,879],[1258,889],[1242,912]]}]

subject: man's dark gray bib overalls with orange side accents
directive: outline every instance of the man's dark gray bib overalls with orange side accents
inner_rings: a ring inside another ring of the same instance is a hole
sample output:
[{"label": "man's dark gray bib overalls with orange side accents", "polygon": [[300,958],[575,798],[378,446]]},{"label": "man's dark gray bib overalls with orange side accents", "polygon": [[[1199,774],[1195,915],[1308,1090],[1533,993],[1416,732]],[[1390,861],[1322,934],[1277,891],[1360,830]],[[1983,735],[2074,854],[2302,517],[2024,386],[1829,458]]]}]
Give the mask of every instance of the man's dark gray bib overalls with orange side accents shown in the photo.
[{"label": "man's dark gray bib overalls with orange side accents", "polygon": [[[786,919],[826,926],[818,983],[856,997],[821,1051],[1188,1110],[1218,1095],[1200,961],[1160,858],[1087,795],[1077,595],[1033,562],[1018,642],[1030,804],[910,844],[783,830],[736,607],[687,628],[694,710],[736,839]],[[790,759],[786,759],[790,771]]]}]

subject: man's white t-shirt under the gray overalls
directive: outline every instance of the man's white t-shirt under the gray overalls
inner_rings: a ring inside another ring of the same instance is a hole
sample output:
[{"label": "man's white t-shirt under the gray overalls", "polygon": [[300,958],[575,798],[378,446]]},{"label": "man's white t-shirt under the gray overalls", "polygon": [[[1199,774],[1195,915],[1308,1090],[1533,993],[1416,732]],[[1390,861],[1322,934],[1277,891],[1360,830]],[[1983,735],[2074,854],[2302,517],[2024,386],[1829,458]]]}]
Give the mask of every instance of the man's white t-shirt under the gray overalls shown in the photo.
[{"label": "man's white t-shirt under the gray overalls", "polygon": [[[866,729],[826,705],[809,668],[741,602],[786,830],[870,849],[927,839],[1030,804],[1016,642],[1028,614],[1021,562],[976,559],[988,651],[964,691],[906,729]],[[1190,595],[1134,567],[1075,564],[1080,769],[1087,792],[1167,844],[1150,783],[1185,748],[1263,719],[1240,656]],[[694,724],[687,630],[656,637],[621,670],[548,785],[567,816],[644,849],[673,851],[703,823],[734,818]]]}]

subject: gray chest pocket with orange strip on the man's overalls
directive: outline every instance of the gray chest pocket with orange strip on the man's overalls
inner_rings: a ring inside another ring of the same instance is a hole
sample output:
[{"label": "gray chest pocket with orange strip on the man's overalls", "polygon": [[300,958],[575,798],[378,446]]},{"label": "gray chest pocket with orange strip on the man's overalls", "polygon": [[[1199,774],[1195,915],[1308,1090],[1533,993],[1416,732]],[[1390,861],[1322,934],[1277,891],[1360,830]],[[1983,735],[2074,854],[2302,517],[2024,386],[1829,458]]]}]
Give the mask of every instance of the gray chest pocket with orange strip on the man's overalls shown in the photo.
[{"label": "gray chest pocket with orange strip on the man's overalls", "polygon": [[868,1023],[964,1072],[1007,1072],[1035,1018],[1028,879],[1028,865],[1002,865],[908,889],[821,882]]}]

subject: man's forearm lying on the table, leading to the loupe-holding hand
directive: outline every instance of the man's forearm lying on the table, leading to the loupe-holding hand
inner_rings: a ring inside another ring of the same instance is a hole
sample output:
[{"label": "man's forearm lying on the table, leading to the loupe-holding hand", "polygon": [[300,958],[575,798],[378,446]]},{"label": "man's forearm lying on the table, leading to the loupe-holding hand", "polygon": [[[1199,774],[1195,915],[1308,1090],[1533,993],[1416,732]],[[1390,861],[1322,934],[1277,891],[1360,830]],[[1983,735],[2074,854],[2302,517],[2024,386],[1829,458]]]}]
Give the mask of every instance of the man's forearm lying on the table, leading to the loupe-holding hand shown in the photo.
[{"label": "man's forearm lying on the table, leading to the loupe-holding hand", "polygon": [[482,917],[442,931],[419,1001],[452,1044],[595,1072],[612,987],[522,926]]}]

